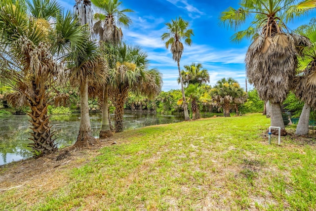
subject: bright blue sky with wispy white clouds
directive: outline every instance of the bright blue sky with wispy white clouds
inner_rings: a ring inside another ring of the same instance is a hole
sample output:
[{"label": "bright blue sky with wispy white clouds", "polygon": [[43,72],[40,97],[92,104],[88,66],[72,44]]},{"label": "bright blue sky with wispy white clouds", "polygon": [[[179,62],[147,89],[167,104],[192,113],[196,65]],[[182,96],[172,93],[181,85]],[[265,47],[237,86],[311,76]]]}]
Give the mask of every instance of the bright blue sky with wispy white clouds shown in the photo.
[{"label": "bright blue sky with wispy white clouds", "polygon": [[[123,39],[141,46],[147,53],[151,68],[163,74],[163,91],[180,88],[177,63],[172,60],[170,49],[166,49],[160,36],[167,32],[165,23],[181,16],[193,29],[192,45],[184,46],[181,68],[192,62],[200,62],[210,75],[210,85],[222,78],[232,77],[245,88],[244,58],[250,41],[230,42],[234,34],[219,23],[219,15],[229,6],[238,8],[238,0],[121,0],[122,8],[134,10],[127,13],[132,24],[122,28]],[[61,1],[66,9],[72,9],[75,0]],[[306,24],[312,15],[296,20],[291,29]],[[248,89],[252,88],[248,84]]]}]

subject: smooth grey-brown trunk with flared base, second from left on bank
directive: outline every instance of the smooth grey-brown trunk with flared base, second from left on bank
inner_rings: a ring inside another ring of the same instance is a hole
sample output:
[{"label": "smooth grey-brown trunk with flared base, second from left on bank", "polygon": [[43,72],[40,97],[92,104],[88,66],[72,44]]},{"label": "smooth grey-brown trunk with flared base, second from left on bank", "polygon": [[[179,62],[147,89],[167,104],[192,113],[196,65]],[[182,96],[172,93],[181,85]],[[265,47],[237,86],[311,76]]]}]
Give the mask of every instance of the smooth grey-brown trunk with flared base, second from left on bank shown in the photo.
[{"label": "smooth grey-brown trunk with flared base, second from left on bank", "polygon": [[88,81],[85,80],[80,84],[80,126],[77,141],[74,146],[82,147],[87,145],[94,145],[96,142],[92,136],[89,106],[88,106]]}]

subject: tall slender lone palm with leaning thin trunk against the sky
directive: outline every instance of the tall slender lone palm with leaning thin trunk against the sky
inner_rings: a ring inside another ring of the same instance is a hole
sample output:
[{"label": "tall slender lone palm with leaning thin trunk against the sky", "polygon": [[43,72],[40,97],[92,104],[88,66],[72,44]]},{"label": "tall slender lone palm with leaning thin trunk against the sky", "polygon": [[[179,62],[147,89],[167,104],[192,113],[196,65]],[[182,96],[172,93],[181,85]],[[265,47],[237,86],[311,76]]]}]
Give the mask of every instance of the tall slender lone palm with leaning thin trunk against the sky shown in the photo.
[{"label": "tall slender lone palm with leaning thin trunk against the sky", "polygon": [[189,23],[184,21],[181,17],[176,18],[175,20],[171,20],[170,23],[166,23],[166,26],[168,32],[162,34],[161,40],[165,42],[165,46],[167,49],[169,45],[171,45],[170,50],[172,53],[172,58],[174,61],[178,63],[179,79],[181,83],[182,101],[184,109],[184,119],[185,121],[189,121],[190,116],[188,112],[188,104],[184,93],[183,81],[180,70],[180,60],[184,49],[181,40],[185,39],[184,42],[190,46],[192,43],[191,35],[194,34],[192,29],[188,29]]}]

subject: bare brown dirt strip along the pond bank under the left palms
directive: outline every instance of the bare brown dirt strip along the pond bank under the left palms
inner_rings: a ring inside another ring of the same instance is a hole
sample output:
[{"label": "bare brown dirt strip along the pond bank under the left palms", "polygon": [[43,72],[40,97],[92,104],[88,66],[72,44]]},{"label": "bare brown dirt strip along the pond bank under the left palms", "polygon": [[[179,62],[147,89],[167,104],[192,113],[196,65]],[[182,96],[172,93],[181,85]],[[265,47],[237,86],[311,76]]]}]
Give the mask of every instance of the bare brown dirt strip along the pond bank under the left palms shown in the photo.
[{"label": "bare brown dirt strip along the pond bank under the left palms", "polygon": [[120,144],[122,136],[97,140],[94,146],[76,148],[69,146],[39,159],[29,158],[0,166],[0,192],[22,187],[46,173],[52,174],[64,168],[78,168],[99,155],[99,149],[113,144]]}]

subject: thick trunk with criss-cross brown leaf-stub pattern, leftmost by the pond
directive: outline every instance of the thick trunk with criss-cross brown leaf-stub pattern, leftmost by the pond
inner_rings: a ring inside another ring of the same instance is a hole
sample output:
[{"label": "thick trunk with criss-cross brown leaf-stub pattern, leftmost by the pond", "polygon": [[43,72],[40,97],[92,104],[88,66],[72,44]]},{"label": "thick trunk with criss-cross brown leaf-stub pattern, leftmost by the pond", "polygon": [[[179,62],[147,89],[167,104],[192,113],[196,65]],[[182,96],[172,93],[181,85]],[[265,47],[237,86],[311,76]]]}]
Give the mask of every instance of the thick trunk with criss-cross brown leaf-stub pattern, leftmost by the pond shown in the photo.
[{"label": "thick trunk with criss-cross brown leaf-stub pattern, leftmost by the pond", "polygon": [[35,102],[31,103],[31,112],[28,115],[32,118],[30,127],[33,131],[30,132],[32,138],[29,138],[33,141],[29,145],[33,149],[33,156],[38,158],[43,155],[51,154],[52,152],[57,151],[57,147],[54,144],[55,139],[52,138],[54,132],[51,132],[50,129],[52,126],[49,126],[49,116],[47,116],[47,104],[43,106],[40,102],[40,95],[35,97]]}]

